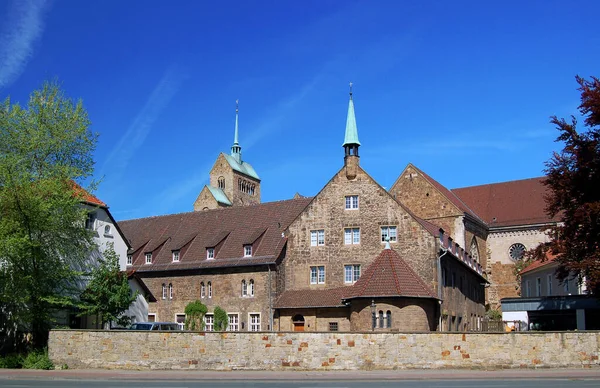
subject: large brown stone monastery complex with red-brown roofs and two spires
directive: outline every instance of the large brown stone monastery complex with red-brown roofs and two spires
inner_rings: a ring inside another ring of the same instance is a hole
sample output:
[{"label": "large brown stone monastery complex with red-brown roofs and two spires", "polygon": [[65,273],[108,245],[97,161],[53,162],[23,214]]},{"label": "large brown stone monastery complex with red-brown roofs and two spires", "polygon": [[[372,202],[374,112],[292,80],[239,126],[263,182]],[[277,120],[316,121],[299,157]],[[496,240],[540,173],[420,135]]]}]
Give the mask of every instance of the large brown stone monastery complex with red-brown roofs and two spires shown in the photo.
[{"label": "large brown stone monastery complex with red-brown roofs and two spires", "polygon": [[317,195],[261,203],[236,109],[195,211],[120,223],[148,320],[200,300],[206,330],[220,306],[232,331],[476,331],[517,295],[513,263],[553,222],[541,178],[448,190],[409,164],[388,191],[360,166],[352,91],[343,148]]}]

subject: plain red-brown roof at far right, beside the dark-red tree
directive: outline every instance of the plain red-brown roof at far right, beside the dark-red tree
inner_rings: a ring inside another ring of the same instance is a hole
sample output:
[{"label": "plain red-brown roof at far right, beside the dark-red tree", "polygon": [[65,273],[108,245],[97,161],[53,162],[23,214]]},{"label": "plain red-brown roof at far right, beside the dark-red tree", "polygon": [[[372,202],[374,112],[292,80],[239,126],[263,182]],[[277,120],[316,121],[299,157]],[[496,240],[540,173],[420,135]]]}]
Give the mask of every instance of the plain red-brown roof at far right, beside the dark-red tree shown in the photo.
[{"label": "plain red-brown roof at far right, beside the dark-red tree", "polygon": [[544,177],[452,189],[489,227],[543,224],[547,216]]}]

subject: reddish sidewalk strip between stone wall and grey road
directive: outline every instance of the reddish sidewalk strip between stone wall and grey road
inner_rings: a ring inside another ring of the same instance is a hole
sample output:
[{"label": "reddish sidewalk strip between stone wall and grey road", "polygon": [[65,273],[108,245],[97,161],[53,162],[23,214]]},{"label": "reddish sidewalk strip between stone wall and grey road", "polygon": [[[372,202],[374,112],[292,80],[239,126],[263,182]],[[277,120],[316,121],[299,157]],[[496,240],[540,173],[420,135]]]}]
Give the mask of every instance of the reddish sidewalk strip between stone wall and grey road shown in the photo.
[{"label": "reddish sidewalk strip between stone wall and grey road", "polygon": [[409,369],[395,371],[206,371],[68,369],[0,369],[0,380],[11,378],[76,380],[477,380],[477,379],[600,379],[600,368],[589,369]]}]

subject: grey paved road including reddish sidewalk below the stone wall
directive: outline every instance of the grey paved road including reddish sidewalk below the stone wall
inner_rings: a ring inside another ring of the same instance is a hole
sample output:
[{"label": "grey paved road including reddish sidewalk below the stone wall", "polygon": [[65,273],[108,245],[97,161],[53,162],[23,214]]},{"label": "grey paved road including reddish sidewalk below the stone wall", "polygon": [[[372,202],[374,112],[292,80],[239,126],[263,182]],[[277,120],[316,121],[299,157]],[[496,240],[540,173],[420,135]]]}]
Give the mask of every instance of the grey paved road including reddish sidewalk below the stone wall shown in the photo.
[{"label": "grey paved road including reddish sidewalk below the stone wall", "polygon": [[318,387],[358,388],[570,388],[600,387],[600,369],[400,370],[332,372],[0,370],[0,387]]}]

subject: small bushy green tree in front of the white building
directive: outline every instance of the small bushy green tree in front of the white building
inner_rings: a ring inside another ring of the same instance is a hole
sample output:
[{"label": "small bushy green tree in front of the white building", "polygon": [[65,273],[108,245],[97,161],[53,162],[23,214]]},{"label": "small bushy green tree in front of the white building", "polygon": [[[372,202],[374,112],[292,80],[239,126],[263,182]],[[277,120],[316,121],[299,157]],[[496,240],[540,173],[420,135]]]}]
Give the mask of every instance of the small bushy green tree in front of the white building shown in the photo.
[{"label": "small bushy green tree in front of the white building", "polygon": [[90,281],[81,293],[78,315],[95,315],[103,328],[111,322],[127,326],[130,318],[123,313],[137,296],[137,292],[131,292],[127,274],[119,268],[119,255],[110,244],[104,257],[92,269]]}]

